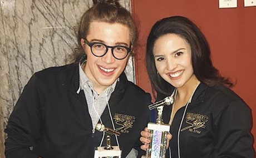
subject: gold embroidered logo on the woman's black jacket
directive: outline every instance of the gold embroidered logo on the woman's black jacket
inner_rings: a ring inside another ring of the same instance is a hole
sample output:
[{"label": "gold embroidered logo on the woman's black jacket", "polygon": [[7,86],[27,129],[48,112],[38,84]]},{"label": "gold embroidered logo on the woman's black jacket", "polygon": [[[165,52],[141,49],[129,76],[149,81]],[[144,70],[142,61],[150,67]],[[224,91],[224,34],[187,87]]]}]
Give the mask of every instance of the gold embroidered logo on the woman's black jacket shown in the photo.
[{"label": "gold embroidered logo on the woman's black jacket", "polygon": [[186,113],[186,123],[189,126],[181,129],[180,131],[189,130],[197,134],[201,134],[200,128],[205,128],[205,123],[208,122],[209,117],[202,114]]}]

